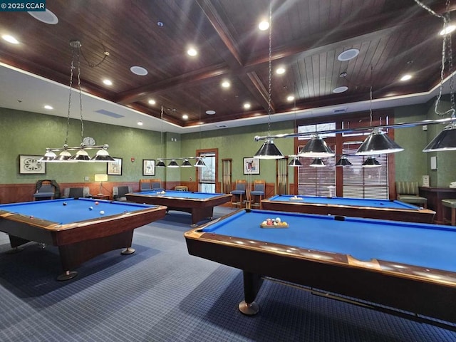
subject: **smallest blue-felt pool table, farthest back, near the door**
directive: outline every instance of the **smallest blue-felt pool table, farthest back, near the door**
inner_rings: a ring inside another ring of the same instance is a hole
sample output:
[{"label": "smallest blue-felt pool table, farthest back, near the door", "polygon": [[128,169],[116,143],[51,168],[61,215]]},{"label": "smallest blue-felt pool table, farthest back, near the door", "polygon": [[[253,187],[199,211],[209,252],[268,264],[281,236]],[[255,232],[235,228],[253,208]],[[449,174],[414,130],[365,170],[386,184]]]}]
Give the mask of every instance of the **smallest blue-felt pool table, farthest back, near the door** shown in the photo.
[{"label": "smallest blue-felt pool table, farthest back, near the door", "polygon": [[128,201],[165,205],[168,210],[190,212],[194,227],[203,219],[212,218],[214,207],[231,201],[231,196],[230,194],[173,190],[165,190],[165,193],[161,191],[143,191],[125,195]]}]

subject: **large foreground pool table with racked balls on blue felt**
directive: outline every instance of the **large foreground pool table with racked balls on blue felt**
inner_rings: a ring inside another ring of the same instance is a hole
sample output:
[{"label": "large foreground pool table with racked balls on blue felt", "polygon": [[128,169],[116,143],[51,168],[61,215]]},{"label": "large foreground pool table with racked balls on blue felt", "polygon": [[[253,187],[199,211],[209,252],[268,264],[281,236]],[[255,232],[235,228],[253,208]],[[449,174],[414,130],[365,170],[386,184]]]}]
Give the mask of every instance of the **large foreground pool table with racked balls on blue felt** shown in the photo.
[{"label": "large foreground pool table with racked balls on blue felt", "polygon": [[[275,217],[289,227],[260,227]],[[189,254],[242,269],[244,314],[258,312],[254,300],[269,277],[400,316],[456,323],[456,227],[240,209],[185,232],[185,240]]]}]

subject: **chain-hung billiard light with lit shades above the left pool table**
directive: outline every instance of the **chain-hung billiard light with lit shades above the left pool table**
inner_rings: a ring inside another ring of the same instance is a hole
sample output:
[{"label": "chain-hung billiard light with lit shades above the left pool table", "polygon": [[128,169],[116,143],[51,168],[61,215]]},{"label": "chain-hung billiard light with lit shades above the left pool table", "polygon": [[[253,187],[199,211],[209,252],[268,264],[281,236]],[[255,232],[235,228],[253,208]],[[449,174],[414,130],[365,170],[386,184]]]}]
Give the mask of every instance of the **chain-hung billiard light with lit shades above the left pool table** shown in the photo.
[{"label": "chain-hung billiard light with lit shades above the left pool table", "polygon": [[[71,40],[70,46],[72,50],[72,58],[71,58],[71,67],[70,67],[70,87],[69,87],[69,95],[68,95],[68,115],[66,120],[66,136],[65,142],[63,147],[58,148],[46,148],[46,153],[43,157],[40,158],[40,162],[113,162],[113,157],[110,157],[108,153],[109,145],[95,145],[95,141],[92,138],[83,138],[84,137],[84,123],[83,123],[83,104],[82,104],[82,89],[81,89],[81,62],[80,56],[82,55],[81,51],[81,41],[78,40]],[[83,56],[83,55],[82,55]],[[105,58],[109,56],[107,51],[104,52],[103,60],[100,63],[93,65],[92,63],[88,63],[90,67],[99,66]],[[76,66],[75,66],[76,63]],[[81,118],[81,145],[76,147],[68,147],[68,128],[70,125],[70,112],[71,112],[71,94],[73,91],[73,71],[76,71],[76,77],[78,81],[78,93],[79,93],[79,110],[80,110],[80,118]],[[90,142],[93,144],[90,145]],[[77,151],[76,155],[71,155],[70,151]],[[90,157],[88,155],[87,150],[98,150],[95,156]],[[60,152],[57,156],[56,152]]]}]

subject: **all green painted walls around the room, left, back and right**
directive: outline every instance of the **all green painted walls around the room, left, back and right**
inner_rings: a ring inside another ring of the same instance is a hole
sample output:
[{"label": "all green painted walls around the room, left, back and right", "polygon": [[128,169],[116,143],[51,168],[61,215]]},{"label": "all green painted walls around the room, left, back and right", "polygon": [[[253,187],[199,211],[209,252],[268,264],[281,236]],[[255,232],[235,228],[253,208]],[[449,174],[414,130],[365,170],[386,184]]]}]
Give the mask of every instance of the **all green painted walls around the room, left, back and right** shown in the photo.
[{"label": "all green painted walls around the room, left, back and right", "polygon": [[[448,103],[442,103],[442,106]],[[445,108],[443,108],[445,110]],[[433,103],[410,105],[395,108],[396,122],[413,122],[438,118],[434,113]],[[58,182],[93,182],[95,173],[105,173],[105,163],[48,163],[46,175],[20,175],[19,155],[43,155],[46,147],[61,147],[65,140],[66,118],[51,115],[28,113],[19,110],[0,108],[0,136],[2,154],[0,155],[0,182],[3,184],[33,183],[38,179],[55,179]],[[155,169],[155,176],[142,175],[142,160],[158,157],[195,156],[198,149],[218,148],[219,182],[222,182],[222,159],[232,159],[232,180],[244,179],[243,157],[252,157],[263,141],[255,141],[255,135],[267,135],[268,125],[252,125],[239,128],[223,128],[201,133],[175,134],[123,128],[114,125],[85,121],[84,136],[95,138],[97,144],[110,145],[113,157],[123,158],[123,175],[109,176],[111,182],[131,182],[140,178],[160,178],[163,181],[195,180],[196,170],[189,168]],[[293,133],[294,120],[271,123],[271,135]],[[447,187],[456,181],[456,151],[422,152],[427,142],[440,132],[440,125],[429,125],[427,131],[422,127],[395,130],[395,141],[405,151],[395,153],[396,180],[415,180],[421,184],[422,175],[430,175],[431,186]],[[71,120],[68,145],[77,146],[81,140],[81,123]],[[276,139],[274,141],[284,155],[294,154],[294,139]],[[430,170],[430,157],[437,157],[437,170]],[[135,162],[130,158],[134,157]],[[167,161],[166,163],[168,163]],[[260,161],[260,175],[252,180],[262,179],[275,182],[275,160]],[[294,167],[289,167],[289,180],[294,181]]]}]

